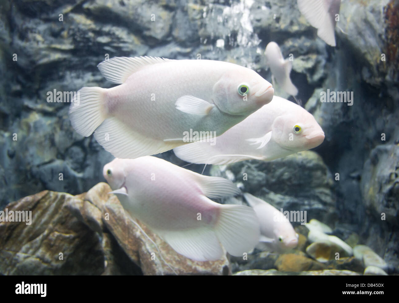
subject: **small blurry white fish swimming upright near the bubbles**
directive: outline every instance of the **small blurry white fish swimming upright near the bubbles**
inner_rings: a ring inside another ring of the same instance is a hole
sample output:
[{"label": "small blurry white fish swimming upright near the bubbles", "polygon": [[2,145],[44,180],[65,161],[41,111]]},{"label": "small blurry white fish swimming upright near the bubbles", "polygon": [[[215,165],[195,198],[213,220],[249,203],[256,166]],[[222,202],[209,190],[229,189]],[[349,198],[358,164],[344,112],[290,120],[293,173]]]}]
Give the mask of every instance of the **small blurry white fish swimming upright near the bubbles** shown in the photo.
[{"label": "small blurry white fish swimming upright near the bubbles", "polygon": [[273,41],[269,42],[266,46],[265,56],[266,63],[272,72],[272,83],[274,82],[273,79],[275,79],[277,84],[281,85],[286,93],[296,96],[298,89],[292,84],[290,78],[292,61],[288,59],[284,60],[279,45]]}]

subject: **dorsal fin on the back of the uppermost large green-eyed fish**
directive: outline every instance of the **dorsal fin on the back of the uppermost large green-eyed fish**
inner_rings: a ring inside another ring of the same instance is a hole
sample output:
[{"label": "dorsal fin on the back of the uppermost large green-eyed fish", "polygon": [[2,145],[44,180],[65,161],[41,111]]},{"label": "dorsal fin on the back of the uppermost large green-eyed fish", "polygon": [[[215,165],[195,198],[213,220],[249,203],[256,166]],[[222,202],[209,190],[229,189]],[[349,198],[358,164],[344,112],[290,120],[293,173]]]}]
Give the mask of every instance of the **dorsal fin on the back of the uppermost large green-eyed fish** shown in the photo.
[{"label": "dorsal fin on the back of the uppermost large green-eyed fish", "polygon": [[169,61],[169,59],[159,57],[113,57],[109,60],[105,60],[97,67],[101,74],[113,83],[122,84],[126,81],[129,76],[144,66],[163,63]]}]

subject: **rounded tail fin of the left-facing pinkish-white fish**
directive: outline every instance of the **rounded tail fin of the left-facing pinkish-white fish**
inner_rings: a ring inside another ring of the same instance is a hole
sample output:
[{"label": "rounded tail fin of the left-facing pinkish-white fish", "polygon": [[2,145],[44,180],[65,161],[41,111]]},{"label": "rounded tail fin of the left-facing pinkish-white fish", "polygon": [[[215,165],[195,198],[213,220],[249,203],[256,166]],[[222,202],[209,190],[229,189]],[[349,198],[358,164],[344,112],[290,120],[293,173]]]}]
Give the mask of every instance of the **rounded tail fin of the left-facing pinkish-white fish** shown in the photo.
[{"label": "rounded tail fin of the left-facing pinkish-white fish", "polygon": [[259,221],[249,206],[222,204],[215,226],[217,238],[233,256],[249,253],[259,242]]}]

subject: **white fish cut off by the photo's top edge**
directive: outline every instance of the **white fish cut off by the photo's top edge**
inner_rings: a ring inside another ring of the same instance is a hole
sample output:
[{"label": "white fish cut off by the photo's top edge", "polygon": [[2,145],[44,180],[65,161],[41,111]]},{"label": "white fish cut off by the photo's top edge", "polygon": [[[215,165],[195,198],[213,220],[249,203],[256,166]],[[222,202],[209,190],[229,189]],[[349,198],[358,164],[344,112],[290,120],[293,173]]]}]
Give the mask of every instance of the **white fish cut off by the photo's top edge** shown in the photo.
[{"label": "white fish cut off by the photo's top edge", "polygon": [[336,14],[341,0],[298,0],[298,8],[305,19],[317,29],[317,35],[328,45],[336,46]]}]

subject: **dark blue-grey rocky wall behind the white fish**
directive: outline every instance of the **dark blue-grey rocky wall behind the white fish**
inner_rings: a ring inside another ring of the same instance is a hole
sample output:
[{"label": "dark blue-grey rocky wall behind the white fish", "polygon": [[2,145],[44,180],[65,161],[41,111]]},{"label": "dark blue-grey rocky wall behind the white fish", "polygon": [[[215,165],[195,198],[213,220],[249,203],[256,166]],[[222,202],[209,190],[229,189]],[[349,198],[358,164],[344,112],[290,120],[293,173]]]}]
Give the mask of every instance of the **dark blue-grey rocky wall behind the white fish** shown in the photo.
[{"label": "dark blue-grey rocky wall behind the white fish", "polygon": [[[112,155],[93,136],[79,136],[69,103],[47,103],[46,93],[111,87],[96,67],[106,54],[200,55],[253,68],[270,81],[263,52],[275,41],[284,57],[293,54],[298,97],[326,139],[314,151],[205,173],[227,177],[277,208],[307,210],[308,221],[323,221],[344,240],[356,233],[398,267],[398,16],[395,1],[343,1],[337,25],[345,33],[337,28],[337,47],[330,47],[289,0],[1,2],[0,208],[41,190],[75,195],[104,181],[102,167]],[[327,89],[353,91],[354,105],[320,103]],[[288,97],[278,87],[276,95]],[[172,151],[160,156],[186,164]]]}]

